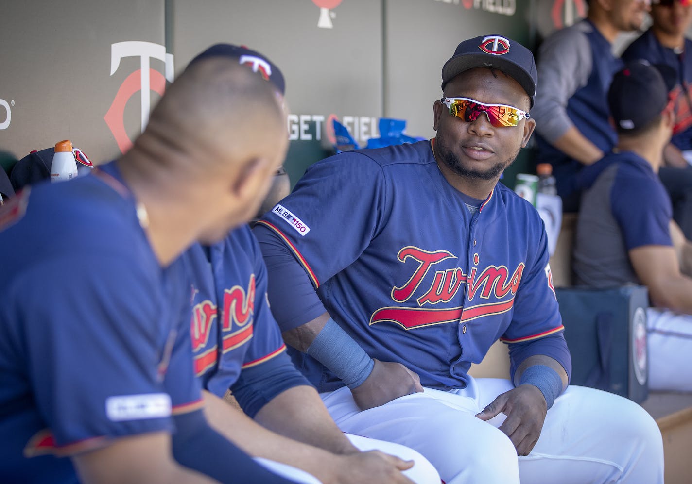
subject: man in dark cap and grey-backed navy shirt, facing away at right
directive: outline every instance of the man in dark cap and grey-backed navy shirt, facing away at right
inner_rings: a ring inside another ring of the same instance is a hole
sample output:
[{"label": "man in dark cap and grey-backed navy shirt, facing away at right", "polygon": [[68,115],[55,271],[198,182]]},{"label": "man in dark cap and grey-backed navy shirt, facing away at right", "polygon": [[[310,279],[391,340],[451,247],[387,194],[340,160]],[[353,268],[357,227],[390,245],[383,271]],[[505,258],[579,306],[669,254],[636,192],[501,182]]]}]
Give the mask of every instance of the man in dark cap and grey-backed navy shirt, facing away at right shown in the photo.
[{"label": "man in dark cap and grey-backed navy shirt, facing away at right", "polygon": [[656,176],[671,138],[673,103],[659,71],[630,62],[615,75],[608,106],[618,142],[584,170],[574,245],[576,284],[648,288],[649,387],[692,391],[692,243],[672,220]]}]

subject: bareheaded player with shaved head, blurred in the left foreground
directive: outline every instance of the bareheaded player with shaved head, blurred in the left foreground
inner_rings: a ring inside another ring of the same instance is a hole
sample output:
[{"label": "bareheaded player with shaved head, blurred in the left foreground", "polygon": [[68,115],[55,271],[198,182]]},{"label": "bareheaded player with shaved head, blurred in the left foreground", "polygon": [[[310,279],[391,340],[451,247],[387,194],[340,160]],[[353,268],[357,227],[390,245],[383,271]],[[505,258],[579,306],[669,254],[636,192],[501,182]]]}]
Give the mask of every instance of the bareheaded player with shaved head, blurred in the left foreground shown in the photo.
[{"label": "bareheaded player with shaved head, blurred in the left foreground", "polygon": [[203,416],[178,259],[256,212],[287,145],[269,84],[203,59],[121,158],[0,208],[1,482],[289,482]]}]

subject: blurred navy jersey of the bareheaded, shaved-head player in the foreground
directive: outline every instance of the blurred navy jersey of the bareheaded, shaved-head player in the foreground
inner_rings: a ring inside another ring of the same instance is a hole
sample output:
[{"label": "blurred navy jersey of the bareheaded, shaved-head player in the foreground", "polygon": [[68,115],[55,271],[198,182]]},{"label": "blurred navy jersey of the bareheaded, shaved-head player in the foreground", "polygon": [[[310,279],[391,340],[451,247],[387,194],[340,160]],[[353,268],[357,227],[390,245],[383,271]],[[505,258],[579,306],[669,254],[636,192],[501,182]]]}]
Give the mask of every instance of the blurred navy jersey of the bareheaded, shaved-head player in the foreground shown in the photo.
[{"label": "blurred navy jersey of the bareheaded, shaved-head player in the foreground", "polygon": [[0,227],[0,481],[75,481],[55,456],[201,406],[183,267],[158,264],[113,163],[25,189]]}]

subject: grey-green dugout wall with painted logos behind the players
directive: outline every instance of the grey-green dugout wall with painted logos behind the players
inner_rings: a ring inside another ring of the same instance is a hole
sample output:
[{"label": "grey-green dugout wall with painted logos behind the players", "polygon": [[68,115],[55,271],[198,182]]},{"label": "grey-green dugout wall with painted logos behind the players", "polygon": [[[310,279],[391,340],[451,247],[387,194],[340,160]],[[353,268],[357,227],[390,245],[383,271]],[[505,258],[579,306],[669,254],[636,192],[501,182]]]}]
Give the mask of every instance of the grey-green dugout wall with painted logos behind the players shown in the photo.
[{"label": "grey-green dugout wall with painted logos behind the players", "polygon": [[584,12],[585,0],[3,0],[0,151],[18,159],[69,138],[95,163],[115,158],[175,73],[226,41],[286,77],[295,183],[330,153],[332,118],[361,145],[381,116],[433,136],[441,66],[460,40],[496,32],[534,48]]}]

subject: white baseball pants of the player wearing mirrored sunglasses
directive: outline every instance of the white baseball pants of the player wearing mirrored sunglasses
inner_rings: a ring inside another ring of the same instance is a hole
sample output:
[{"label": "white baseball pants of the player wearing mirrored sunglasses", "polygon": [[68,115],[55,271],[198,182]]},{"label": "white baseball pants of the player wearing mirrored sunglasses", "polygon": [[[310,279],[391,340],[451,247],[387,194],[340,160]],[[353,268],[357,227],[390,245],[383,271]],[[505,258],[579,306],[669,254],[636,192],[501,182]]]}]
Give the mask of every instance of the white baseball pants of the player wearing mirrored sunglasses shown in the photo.
[{"label": "white baseball pants of the player wearing mirrored sunglasses", "polygon": [[509,380],[471,380],[464,390],[426,389],[358,411],[348,389],[322,394],[343,430],[411,447],[446,483],[662,483],[660,431],[644,409],[611,393],[570,387],[548,411],[533,452],[518,458],[498,427],[475,417]]}]

